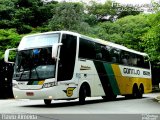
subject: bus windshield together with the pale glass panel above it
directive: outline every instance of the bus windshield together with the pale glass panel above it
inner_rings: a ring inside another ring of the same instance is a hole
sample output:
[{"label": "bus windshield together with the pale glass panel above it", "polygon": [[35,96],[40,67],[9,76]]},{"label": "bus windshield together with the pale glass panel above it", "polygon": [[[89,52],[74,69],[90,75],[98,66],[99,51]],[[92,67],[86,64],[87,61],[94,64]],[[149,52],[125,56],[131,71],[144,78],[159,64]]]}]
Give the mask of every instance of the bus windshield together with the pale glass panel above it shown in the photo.
[{"label": "bus windshield together with the pale glass panel above it", "polygon": [[42,80],[55,77],[52,45],[59,34],[42,34],[22,39],[14,66],[14,80]]}]

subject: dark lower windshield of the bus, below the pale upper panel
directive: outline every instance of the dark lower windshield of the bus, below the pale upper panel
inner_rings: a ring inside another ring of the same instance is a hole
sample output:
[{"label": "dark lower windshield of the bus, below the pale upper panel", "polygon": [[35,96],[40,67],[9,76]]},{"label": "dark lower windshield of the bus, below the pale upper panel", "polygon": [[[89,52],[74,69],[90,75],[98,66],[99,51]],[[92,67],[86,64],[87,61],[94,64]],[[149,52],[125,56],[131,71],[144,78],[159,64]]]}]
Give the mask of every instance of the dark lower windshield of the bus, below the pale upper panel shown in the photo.
[{"label": "dark lower windshield of the bus, below the pale upper panel", "polygon": [[51,57],[52,47],[19,51],[14,66],[15,80],[42,80],[53,78],[55,60]]}]

